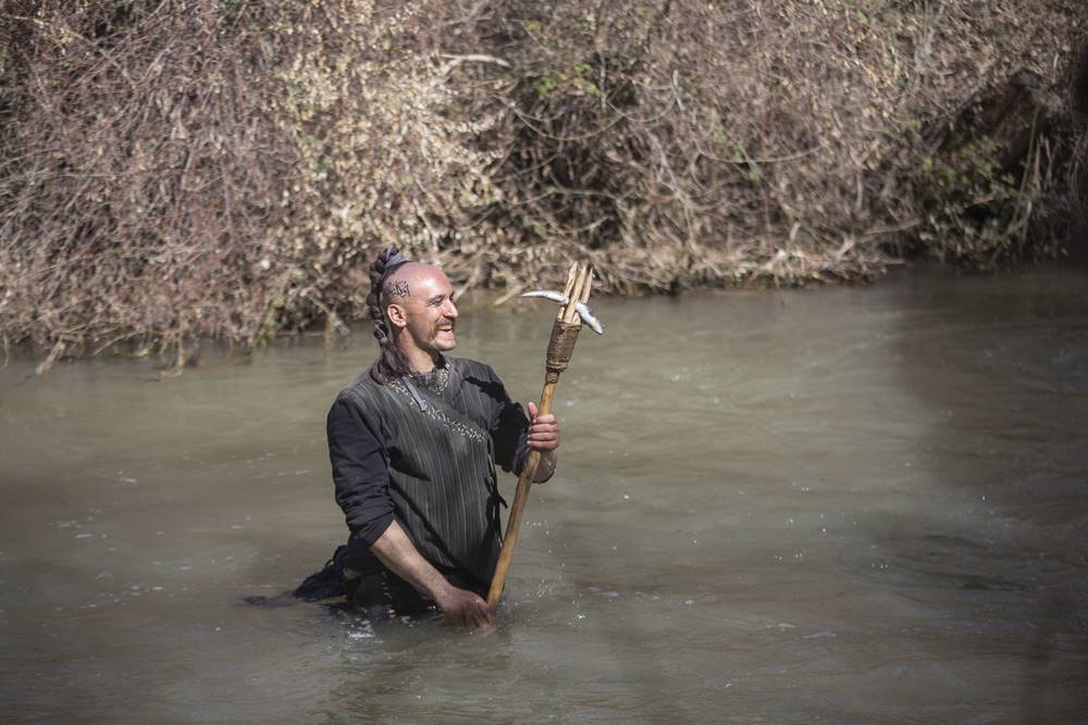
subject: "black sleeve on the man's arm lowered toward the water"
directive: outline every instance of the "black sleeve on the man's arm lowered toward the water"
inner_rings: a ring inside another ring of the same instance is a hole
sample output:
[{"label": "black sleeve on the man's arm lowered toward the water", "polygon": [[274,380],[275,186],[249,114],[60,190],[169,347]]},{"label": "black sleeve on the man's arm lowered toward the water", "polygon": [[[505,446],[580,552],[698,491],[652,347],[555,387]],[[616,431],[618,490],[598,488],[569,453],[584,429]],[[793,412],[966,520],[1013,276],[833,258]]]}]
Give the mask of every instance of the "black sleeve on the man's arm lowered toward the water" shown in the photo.
[{"label": "black sleeve on the man's arm lowered toward the water", "polygon": [[342,396],[333,403],[325,432],[336,503],[351,534],[373,546],[393,523],[387,453],[350,398]]}]

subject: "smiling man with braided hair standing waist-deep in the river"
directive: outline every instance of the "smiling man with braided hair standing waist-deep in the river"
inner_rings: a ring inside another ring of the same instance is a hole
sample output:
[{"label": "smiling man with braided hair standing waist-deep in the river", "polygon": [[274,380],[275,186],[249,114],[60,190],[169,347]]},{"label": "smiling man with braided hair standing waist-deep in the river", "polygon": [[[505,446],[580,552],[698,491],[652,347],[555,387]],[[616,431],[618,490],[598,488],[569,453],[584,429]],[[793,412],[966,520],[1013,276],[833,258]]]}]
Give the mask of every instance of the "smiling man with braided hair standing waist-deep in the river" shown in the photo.
[{"label": "smiling man with braided hair standing waist-deep in the river", "polygon": [[559,425],[529,418],[494,371],[447,357],[457,307],[441,270],[395,248],[371,266],[367,299],[381,352],[329,412],[336,501],[351,535],[334,564],[351,603],[371,616],[437,607],[468,627],[490,624],[500,548],[495,464],[536,482],[555,472]]}]

